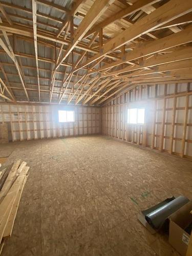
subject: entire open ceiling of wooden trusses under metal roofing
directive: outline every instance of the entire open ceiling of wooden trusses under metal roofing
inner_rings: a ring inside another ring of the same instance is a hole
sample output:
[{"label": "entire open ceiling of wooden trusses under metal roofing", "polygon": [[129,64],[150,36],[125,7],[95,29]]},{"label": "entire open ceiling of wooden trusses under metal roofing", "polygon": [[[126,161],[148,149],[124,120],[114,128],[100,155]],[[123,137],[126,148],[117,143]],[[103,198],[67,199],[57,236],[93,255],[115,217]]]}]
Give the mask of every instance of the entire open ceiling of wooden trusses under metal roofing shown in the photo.
[{"label": "entire open ceiling of wooden trusses under metal roofing", "polygon": [[192,79],[190,0],[22,2],[0,2],[2,100],[101,105]]}]

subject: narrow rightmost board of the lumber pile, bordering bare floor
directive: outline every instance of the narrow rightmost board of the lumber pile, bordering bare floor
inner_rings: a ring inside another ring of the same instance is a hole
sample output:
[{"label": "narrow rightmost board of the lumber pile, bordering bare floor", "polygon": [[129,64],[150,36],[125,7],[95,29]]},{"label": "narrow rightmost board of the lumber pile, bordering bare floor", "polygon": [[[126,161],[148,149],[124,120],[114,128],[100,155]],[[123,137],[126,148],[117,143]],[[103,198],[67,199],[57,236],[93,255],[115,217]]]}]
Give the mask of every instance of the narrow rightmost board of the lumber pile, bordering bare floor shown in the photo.
[{"label": "narrow rightmost board of the lumber pile, bordering bare floor", "polygon": [[[28,172],[28,170],[29,170],[28,166],[24,167],[24,169],[23,169],[24,172]],[[23,185],[22,185],[22,187],[20,187],[20,189],[17,193],[15,202],[13,204],[13,207],[12,207],[12,210],[11,210],[11,213],[10,213],[10,216],[9,216],[9,219],[8,219],[8,222],[7,222],[4,234],[3,234],[4,238],[10,237],[11,234],[12,234],[13,225],[14,225],[14,221],[15,221],[16,213],[17,213],[17,209],[18,209],[18,204],[19,204],[19,201],[20,201],[20,197],[22,196],[22,192],[23,192],[25,183],[27,181],[27,178],[28,178],[28,175],[25,176],[24,181],[23,181]]]}]

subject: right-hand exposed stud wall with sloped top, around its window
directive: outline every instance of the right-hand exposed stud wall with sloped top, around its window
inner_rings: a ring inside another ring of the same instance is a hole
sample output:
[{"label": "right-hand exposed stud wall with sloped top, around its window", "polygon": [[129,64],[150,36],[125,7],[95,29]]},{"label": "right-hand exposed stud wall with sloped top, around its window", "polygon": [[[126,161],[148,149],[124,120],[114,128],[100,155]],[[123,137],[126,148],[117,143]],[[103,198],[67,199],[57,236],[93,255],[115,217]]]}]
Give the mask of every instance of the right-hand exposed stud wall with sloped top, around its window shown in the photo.
[{"label": "right-hand exposed stud wall with sloped top, around its window", "polygon": [[[128,108],[145,108],[145,124],[127,124]],[[192,84],[137,86],[101,110],[102,134],[192,159]]]}]

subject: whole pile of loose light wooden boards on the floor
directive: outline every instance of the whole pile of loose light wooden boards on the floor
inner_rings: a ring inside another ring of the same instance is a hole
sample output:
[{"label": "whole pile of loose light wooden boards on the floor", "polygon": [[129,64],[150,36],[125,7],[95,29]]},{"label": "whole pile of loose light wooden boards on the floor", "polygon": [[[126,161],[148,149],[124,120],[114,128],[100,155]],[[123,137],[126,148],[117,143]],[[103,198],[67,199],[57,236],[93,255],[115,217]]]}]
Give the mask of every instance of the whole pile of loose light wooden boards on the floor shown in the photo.
[{"label": "whole pile of loose light wooden boards on the floor", "polygon": [[18,204],[29,175],[26,162],[17,160],[0,170],[0,254],[11,236]]}]

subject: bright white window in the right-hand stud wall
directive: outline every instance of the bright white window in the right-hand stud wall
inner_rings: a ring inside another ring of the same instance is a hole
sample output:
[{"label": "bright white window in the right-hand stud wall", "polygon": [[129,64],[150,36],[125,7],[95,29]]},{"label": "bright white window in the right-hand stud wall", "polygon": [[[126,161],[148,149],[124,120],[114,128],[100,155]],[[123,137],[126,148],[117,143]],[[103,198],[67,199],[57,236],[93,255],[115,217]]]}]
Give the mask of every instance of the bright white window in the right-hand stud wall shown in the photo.
[{"label": "bright white window in the right-hand stud wall", "polygon": [[145,109],[128,109],[127,110],[127,123],[144,123],[145,122]]}]

